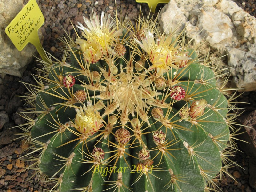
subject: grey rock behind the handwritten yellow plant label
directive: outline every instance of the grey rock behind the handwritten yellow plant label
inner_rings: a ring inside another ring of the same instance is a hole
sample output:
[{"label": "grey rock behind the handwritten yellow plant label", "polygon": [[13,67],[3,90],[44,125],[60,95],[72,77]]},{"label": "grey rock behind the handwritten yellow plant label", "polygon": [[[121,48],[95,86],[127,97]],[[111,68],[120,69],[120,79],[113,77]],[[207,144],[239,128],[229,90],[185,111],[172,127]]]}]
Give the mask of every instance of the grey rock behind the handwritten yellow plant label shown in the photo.
[{"label": "grey rock behind the handwritten yellow plant label", "polygon": [[[22,7],[22,0],[0,0],[0,73],[22,76],[27,65],[37,55],[36,48],[30,43],[18,51],[4,31]],[[40,30],[39,38],[42,40]]]}]

